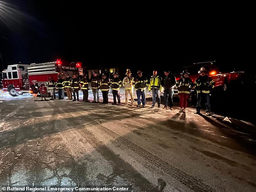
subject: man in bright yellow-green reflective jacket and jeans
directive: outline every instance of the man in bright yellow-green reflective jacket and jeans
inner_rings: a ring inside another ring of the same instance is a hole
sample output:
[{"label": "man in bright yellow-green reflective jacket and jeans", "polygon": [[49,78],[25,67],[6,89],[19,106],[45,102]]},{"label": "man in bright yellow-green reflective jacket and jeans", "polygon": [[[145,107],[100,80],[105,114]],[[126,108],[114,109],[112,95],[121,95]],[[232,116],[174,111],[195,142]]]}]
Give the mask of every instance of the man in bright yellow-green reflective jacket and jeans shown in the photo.
[{"label": "man in bright yellow-green reflective jacket and jeans", "polygon": [[159,89],[161,87],[162,78],[157,75],[157,71],[153,71],[153,75],[150,77],[149,80],[149,91],[152,91],[152,106],[151,108],[155,107],[155,101],[157,102],[157,106],[160,107],[161,100]]}]

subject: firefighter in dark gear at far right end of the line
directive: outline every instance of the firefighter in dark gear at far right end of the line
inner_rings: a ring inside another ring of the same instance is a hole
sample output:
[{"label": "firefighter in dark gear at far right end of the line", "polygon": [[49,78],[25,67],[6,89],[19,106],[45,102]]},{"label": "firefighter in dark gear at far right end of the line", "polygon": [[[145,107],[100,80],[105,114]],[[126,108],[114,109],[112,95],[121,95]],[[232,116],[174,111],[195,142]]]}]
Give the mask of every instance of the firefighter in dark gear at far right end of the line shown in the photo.
[{"label": "firefighter in dark gear at far right end of the line", "polygon": [[207,70],[205,67],[201,67],[198,71],[199,77],[195,79],[194,87],[197,90],[197,106],[195,114],[200,113],[201,101],[203,98],[206,99],[206,115],[210,116],[211,106],[210,106],[210,90],[215,86],[214,80],[209,77],[206,73]]}]

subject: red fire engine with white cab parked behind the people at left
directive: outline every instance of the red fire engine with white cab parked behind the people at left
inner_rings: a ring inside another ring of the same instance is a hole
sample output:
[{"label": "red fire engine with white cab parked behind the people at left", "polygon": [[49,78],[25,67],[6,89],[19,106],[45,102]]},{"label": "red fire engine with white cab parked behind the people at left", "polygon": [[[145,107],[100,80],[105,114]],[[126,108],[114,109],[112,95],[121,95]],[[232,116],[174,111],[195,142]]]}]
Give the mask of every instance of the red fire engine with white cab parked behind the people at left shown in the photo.
[{"label": "red fire engine with white cab parked behind the people at left", "polygon": [[[81,63],[62,63],[61,60],[48,63],[32,63],[30,65],[15,64],[8,65],[7,69],[2,71],[3,91],[8,92],[11,96],[18,96],[25,92],[29,92],[29,86],[33,80],[36,80],[38,85],[49,80],[52,77],[57,81],[59,75],[69,73],[83,74]],[[47,88],[48,94],[50,91]]]}]

